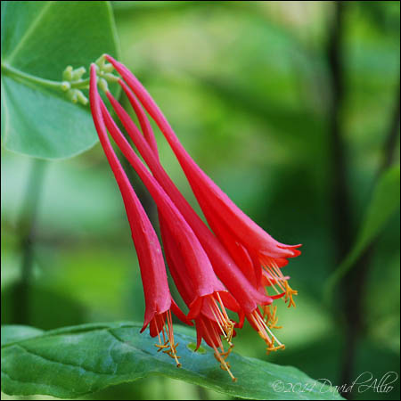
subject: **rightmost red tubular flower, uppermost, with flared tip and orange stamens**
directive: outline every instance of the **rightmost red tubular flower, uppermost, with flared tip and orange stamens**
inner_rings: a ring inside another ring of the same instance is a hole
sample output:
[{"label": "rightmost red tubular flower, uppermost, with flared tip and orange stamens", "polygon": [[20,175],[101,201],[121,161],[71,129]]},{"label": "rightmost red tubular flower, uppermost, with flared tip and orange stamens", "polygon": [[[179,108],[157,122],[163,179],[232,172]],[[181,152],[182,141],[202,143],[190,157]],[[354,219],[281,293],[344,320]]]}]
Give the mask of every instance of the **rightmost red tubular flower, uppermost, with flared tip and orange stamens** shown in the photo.
[{"label": "rightmost red tubular flower, uppermost, with flared tip and orange stamens", "polygon": [[[300,245],[286,245],[275,241],[250,217],[245,215],[192,160],[160,108],[131,71],[109,55],[106,56],[106,59],[124,78],[127,85],[142,102],[145,110],[160,127],[175,152],[210,227],[220,241],[225,244],[233,259],[248,272],[247,274],[251,274],[252,280],[256,281],[257,286],[261,282],[262,269],[270,274],[275,281],[273,288],[277,292],[280,292],[278,289],[285,292],[285,299],[289,302],[289,307],[294,305],[292,296],[297,291],[291,289],[280,267],[287,264],[287,258],[299,256],[300,251],[297,248]],[[253,273],[251,273],[252,271]],[[222,277],[221,279],[224,281]]]}]

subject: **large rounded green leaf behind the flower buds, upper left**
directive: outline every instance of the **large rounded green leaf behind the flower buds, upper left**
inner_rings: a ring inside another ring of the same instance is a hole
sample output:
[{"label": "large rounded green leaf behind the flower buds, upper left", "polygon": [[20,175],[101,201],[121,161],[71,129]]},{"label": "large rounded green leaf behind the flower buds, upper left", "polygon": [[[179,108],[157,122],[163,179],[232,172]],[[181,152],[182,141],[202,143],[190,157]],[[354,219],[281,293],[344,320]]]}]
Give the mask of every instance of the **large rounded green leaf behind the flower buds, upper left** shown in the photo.
[{"label": "large rounded green leaf behind the flower buds, upper left", "polygon": [[109,2],[4,1],[1,7],[4,147],[44,159],[86,151],[97,141],[89,107],[70,102],[59,86],[68,65],[87,70],[102,53],[117,55]]}]

